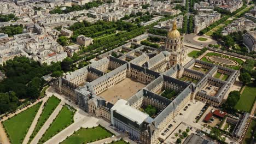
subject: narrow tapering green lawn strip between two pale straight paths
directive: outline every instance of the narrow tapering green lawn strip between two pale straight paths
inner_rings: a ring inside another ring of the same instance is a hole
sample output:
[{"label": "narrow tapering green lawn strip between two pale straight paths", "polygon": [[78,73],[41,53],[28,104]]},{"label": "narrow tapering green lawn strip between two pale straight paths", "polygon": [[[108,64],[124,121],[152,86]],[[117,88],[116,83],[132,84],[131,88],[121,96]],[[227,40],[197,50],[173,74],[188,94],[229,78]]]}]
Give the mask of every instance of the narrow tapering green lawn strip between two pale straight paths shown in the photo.
[{"label": "narrow tapering green lawn strip between two pale straight paths", "polygon": [[55,97],[54,95],[51,96],[46,103],[44,104],[44,109],[43,112],[41,113],[37,125],[34,128],[34,131],[31,135],[31,139],[36,136],[36,134],[38,133],[38,131],[40,130],[40,128],[43,127],[43,124],[46,122],[46,120],[50,117],[51,113],[53,113],[53,111],[55,110],[55,108],[57,107],[57,105],[60,104],[60,99]]}]

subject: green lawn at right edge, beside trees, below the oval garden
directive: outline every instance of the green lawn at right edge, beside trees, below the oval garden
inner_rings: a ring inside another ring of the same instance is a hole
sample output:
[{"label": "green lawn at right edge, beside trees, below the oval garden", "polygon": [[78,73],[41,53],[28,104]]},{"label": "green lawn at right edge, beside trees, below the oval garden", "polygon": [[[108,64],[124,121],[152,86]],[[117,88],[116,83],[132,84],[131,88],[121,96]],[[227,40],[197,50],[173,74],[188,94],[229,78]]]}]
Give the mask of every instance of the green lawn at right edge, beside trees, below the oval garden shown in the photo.
[{"label": "green lawn at right edge, beside trees, below the oval garden", "polygon": [[256,87],[252,86],[253,84],[251,83],[250,85],[246,86],[245,90],[241,94],[240,100],[236,104],[235,108],[237,110],[243,110],[250,112],[251,107],[254,104],[254,99],[256,97]]}]

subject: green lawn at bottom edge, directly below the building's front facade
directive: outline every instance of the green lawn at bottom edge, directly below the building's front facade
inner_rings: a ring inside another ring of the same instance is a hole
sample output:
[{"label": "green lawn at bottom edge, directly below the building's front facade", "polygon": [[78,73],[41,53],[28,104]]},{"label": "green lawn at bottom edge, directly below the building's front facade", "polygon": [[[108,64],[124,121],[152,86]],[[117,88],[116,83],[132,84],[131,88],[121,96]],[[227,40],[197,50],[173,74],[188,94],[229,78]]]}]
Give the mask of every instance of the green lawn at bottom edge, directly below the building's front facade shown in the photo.
[{"label": "green lawn at bottom edge, directly below the building's front facade", "polygon": [[62,144],[89,143],[96,140],[105,139],[112,135],[113,135],[112,133],[109,133],[109,131],[102,128],[101,126],[98,126],[95,128],[88,128],[88,129],[81,128],[61,143]]}]

